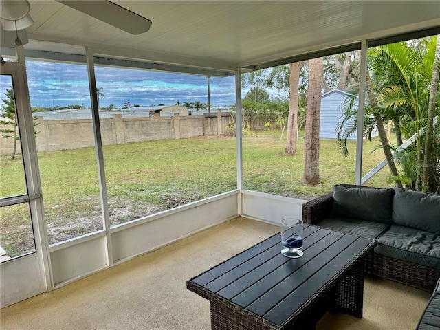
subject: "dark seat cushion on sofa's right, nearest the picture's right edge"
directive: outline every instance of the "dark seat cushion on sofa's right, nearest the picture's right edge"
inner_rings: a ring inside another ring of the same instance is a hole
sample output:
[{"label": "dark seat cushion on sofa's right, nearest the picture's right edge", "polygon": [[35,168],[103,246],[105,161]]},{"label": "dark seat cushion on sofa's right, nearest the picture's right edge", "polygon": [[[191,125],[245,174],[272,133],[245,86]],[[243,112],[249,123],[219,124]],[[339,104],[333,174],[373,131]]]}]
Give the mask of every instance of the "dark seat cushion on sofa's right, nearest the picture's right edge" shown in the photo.
[{"label": "dark seat cushion on sofa's right, nearest the picture's right edge", "polygon": [[391,225],[377,239],[375,252],[440,269],[440,235],[432,232]]}]

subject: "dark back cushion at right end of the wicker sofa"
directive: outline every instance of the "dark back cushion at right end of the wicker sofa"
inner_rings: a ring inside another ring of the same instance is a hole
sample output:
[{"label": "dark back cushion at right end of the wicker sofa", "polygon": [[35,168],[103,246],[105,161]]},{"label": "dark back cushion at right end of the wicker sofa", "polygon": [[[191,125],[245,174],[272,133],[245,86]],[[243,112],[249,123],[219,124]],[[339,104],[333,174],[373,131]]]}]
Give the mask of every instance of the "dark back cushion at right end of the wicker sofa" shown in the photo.
[{"label": "dark back cushion at right end of the wicker sofa", "polygon": [[393,221],[440,234],[440,195],[395,187]]}]

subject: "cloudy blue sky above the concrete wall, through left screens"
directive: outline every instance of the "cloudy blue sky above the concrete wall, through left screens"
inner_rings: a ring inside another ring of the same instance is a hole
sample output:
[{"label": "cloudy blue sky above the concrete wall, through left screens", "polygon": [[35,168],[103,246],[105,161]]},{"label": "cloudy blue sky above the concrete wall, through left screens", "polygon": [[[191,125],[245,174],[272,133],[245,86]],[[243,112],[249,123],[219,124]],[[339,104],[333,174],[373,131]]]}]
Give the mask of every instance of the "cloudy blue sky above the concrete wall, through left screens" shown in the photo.
[{"label": "cloudy blue sky above the concrete wall, through left screens", "polygon": [[[26,61],[31,107],[65,107],[84,104],[90,107],[87,67],[65,63]],[[208,103],[206,76],[164,72],[95,67],[96,85],[102,87],[100,106],[125,102],[139,105],[166,105],[179,102]],[[1,79],[1,98],[8,79]],[[235,103],[234,76],[210,79],[211,104],[223,107]]]}]

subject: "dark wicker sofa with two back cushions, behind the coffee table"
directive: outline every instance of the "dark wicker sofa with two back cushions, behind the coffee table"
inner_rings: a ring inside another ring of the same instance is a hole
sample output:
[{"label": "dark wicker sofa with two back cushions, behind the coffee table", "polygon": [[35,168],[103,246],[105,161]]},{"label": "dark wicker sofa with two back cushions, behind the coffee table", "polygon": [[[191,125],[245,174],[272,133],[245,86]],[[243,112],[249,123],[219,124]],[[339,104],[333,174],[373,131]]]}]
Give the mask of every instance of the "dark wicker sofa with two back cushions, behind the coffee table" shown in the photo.
[{"label": "dark wicker sofa with two back cushions, behind the coffee table", "polygon": [[366,274],[432,292],[440,278],[440,195],[340,184],[303,204],[303,221],[376,239]]}]

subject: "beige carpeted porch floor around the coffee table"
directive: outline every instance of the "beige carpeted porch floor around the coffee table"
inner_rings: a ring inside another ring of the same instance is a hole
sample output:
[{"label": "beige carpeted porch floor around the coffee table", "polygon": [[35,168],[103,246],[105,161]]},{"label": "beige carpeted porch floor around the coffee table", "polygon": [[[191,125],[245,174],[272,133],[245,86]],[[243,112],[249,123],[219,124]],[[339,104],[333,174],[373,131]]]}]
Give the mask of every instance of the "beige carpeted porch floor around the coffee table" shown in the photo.
[{"label": "beige carpeted porch floor around the coffee table", "polygon": [[[279,228],[238,218],[48,294],[1,309],[6,329],[209,329],[208,300],[186,281]],[[364,318],[326,314],[317,330],[414,329],[430,294],[366,279]]]}]

